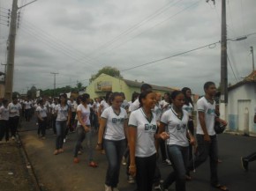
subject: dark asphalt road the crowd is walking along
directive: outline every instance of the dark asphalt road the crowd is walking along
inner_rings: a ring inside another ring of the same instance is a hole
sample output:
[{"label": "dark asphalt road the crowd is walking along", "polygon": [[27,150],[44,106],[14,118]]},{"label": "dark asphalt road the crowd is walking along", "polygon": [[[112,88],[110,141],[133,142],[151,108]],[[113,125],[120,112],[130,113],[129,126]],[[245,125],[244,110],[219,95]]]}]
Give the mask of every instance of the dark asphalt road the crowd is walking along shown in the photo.
[{"label": "dark asphalt road the crowd is walking along", "polygon": [[[29,161],[34,169],[36,179],[40,183],[41,190],[49,191],[103,191],[104,179],[107,169],[106,157],[95,151],[95,160],[99,163],[98,168],[87,165],[87,155],[79,156],[80,163],[73,164],[72,151],[76,141],[75,133],[68,136],[64,143],[64,153],[53,155],[55,139],[51,129],[47,130],[45,140],[37,137],[34,121],[23,122],[19,136],[26,149]],[[218,136],[220,182],[227,185],[231,191],[255,190],[256,161],[250,163],[249,171],[241,168],[240,157],[256,151],[256,138],[247,136],[234,136],[222,134]],[[96,135],[94,136],[96,145]],[[83,143],[85,144],[85,143]],[[170,165],[159,166],[164,179],[172,171]],[[209,162],[201,165],[192,173],[192,181],[187,182],[187,191],[215,191],[209,183]],[[120,191],[133,191],[135,185],[127,182],[125,167],[122,165],[118,188]],[[175,190],[175,185],[169,187]]]}]

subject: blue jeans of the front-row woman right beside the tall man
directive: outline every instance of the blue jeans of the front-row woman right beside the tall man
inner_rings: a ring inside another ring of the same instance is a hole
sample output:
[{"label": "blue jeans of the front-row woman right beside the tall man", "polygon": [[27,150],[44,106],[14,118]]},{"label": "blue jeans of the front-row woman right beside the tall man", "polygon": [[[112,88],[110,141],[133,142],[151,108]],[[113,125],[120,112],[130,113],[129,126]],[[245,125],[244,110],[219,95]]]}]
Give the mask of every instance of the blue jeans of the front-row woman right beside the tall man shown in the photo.
[{"label": "blue jeans of the front-row woman right beside the tall man", "polygon": [[167,151],[174,171],[169,173],[166,180],[164,180],[162,187],[168,188],[174,181],[176,181],[176,190],[185,191],[185,173],[189,153],[188,147],[168,145]]}]

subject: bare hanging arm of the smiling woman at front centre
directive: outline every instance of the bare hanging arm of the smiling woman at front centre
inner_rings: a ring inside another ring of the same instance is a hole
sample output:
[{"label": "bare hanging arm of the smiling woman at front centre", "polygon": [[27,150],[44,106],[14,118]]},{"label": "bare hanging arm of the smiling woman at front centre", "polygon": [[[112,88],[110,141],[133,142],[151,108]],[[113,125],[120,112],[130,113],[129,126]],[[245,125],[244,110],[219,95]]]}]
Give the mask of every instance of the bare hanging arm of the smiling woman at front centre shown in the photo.
[{"label": "bare hanging arm of the smiling woman at front centre", "polygon": [[135,147],[136,147],[136,137],[137,137],[137,128],[129,127],[129,149],[130,149],[130,166],[129,173],[132,176],[136,175],[136,165],[135,165]]}]

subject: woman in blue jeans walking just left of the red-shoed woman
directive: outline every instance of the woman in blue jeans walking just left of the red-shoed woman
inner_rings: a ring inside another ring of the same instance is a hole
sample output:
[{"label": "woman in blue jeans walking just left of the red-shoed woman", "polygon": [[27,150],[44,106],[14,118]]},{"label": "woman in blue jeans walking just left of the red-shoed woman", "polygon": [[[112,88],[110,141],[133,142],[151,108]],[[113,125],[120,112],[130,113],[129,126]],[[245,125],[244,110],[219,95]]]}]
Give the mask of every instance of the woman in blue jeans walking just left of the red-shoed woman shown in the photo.
[{"label": "woman in blue jeans walking just left of the red-shoed woman", "polygon": [[56,115],[56,150],[54,151],[54,155],[57,155],[64,152],[65,129],[71,121],[71,109],[67,104],[66,94],[59,96],[59,104],[56,105],[54,110]]}]

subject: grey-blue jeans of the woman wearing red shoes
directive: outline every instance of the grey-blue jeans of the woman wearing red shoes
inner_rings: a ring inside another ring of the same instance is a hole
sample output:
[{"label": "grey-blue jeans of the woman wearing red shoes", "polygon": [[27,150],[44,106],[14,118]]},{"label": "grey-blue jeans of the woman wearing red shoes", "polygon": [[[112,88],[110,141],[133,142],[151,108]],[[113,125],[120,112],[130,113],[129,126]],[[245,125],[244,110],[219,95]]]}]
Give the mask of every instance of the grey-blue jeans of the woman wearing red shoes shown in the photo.
[{"label": "grey-blue jeans of the woman wearing red shoes", "polygon": [[[87,126],[90,127],[90,126]],[[77,143],[75,144],[75,151],[74,151],[74,157],[78,157],[79,149],[81,148],[81,143],[86,138],[87,140],[87,156],[89,158],[89,162],[94,160],[94,148],[92,143],[92,130],[86,132],[85,129],[82,126],[78,126],[77,129]]]}]

